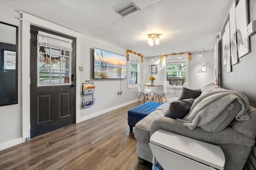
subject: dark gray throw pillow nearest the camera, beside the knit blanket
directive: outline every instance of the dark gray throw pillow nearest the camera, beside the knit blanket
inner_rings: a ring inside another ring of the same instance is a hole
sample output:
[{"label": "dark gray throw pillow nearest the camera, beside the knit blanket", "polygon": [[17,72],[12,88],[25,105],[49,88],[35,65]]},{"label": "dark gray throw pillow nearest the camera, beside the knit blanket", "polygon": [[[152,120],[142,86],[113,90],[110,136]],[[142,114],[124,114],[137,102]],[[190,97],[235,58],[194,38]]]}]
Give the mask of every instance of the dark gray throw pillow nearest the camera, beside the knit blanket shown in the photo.
[{"label": "dark gray throw pillow nearest the camera, beside the knit blanket", "polygon": [[194,99],[184,99],[171,102],[169,109],[166,111],[164,116],[173,119],[182,119],[188,114],[193,103]]}]

